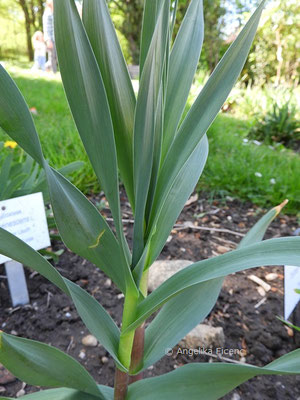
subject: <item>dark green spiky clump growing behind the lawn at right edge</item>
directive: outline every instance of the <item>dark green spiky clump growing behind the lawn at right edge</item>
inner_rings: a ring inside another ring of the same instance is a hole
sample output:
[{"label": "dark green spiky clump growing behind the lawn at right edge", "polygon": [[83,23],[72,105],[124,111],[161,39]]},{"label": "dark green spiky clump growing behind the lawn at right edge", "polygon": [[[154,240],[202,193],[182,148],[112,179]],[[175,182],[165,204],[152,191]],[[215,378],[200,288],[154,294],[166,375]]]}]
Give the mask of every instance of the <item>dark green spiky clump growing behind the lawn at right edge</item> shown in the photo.
[{"label": "dark green spiky clump growing behind the lawn at right edge", "polygon": [[281,143],[286,147],[300,148],[300,121],[296,118],[296,107],[290,101],[282,105],[274,103],[272,110],[253,125],[248,136],[267,144]]}]

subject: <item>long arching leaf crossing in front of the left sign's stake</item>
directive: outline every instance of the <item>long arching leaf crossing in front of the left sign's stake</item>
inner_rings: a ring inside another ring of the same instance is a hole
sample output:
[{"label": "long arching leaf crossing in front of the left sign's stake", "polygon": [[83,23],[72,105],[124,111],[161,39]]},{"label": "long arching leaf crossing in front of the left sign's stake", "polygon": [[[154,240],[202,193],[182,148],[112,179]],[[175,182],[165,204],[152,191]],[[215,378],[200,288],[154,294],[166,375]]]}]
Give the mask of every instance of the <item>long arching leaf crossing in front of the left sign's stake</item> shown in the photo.
[{"label": "long arching leaf crossing in front of the left sign's stake", "polygon": [[119,368],[124,369],[118,360],[120,331],[110,315],[92,296],[80,286],[63,278],[38,252],[2,228],[0,228],[0,254],[37,271],[71,297],[87,328],[112,355]]}]

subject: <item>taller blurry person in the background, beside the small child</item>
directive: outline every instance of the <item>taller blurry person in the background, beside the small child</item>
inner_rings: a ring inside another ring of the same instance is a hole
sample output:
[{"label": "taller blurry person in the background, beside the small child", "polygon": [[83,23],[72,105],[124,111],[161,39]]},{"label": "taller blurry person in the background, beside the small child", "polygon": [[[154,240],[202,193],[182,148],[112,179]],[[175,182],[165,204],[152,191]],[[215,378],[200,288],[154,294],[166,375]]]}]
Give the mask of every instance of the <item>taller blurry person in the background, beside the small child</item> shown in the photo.
[{"label": "taller blurry person in the background, beside the small child", "polygon": [[57,54],[54,39],[54,21],[53,21],[53,0],[46,1],[46,7],[43,14],[44,40],[47,46],[48,62],[52,72],[57,72]]}]

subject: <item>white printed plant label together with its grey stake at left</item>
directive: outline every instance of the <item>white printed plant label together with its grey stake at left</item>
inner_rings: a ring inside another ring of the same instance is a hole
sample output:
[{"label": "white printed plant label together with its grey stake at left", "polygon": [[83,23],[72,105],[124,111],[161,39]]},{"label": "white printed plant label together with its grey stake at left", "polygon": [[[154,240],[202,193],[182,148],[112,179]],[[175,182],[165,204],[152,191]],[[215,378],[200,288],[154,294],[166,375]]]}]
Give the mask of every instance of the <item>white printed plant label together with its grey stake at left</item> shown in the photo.
[{"label": "white printed plant label together with its grey stake at left", "polygon": [[[34,250],[50,246],[42,193],[0,201],[0,227],[26,242]],[[5,264],[13,306],[29,302],[23,265],[0,255]]]}]

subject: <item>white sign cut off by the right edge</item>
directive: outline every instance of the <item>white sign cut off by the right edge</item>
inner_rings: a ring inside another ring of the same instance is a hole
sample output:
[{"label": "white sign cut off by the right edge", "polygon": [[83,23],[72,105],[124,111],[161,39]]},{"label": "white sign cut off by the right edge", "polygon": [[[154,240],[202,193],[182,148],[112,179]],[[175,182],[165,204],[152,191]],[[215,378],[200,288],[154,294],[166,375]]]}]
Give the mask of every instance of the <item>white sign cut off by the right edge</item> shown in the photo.
[{"label": "white sign cut off by the right edge", "polygon": [[300,300],[300,268],[286,265],[284,267],[284,318],[288,319]]}]

